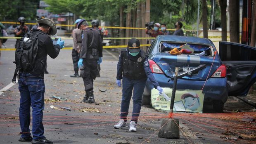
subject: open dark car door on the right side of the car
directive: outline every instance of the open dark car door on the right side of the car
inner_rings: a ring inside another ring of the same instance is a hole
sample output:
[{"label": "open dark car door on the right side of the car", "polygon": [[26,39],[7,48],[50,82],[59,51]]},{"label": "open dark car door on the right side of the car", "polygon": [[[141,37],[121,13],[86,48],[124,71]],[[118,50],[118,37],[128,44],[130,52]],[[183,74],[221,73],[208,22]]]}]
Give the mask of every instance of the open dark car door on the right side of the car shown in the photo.
[{"label": "open dark car door on the right side of the car", "polygon": [[256,48],[235,42],[219,42],[219,55],[227,68],[229,96],[246,96],[256,82]]}]

